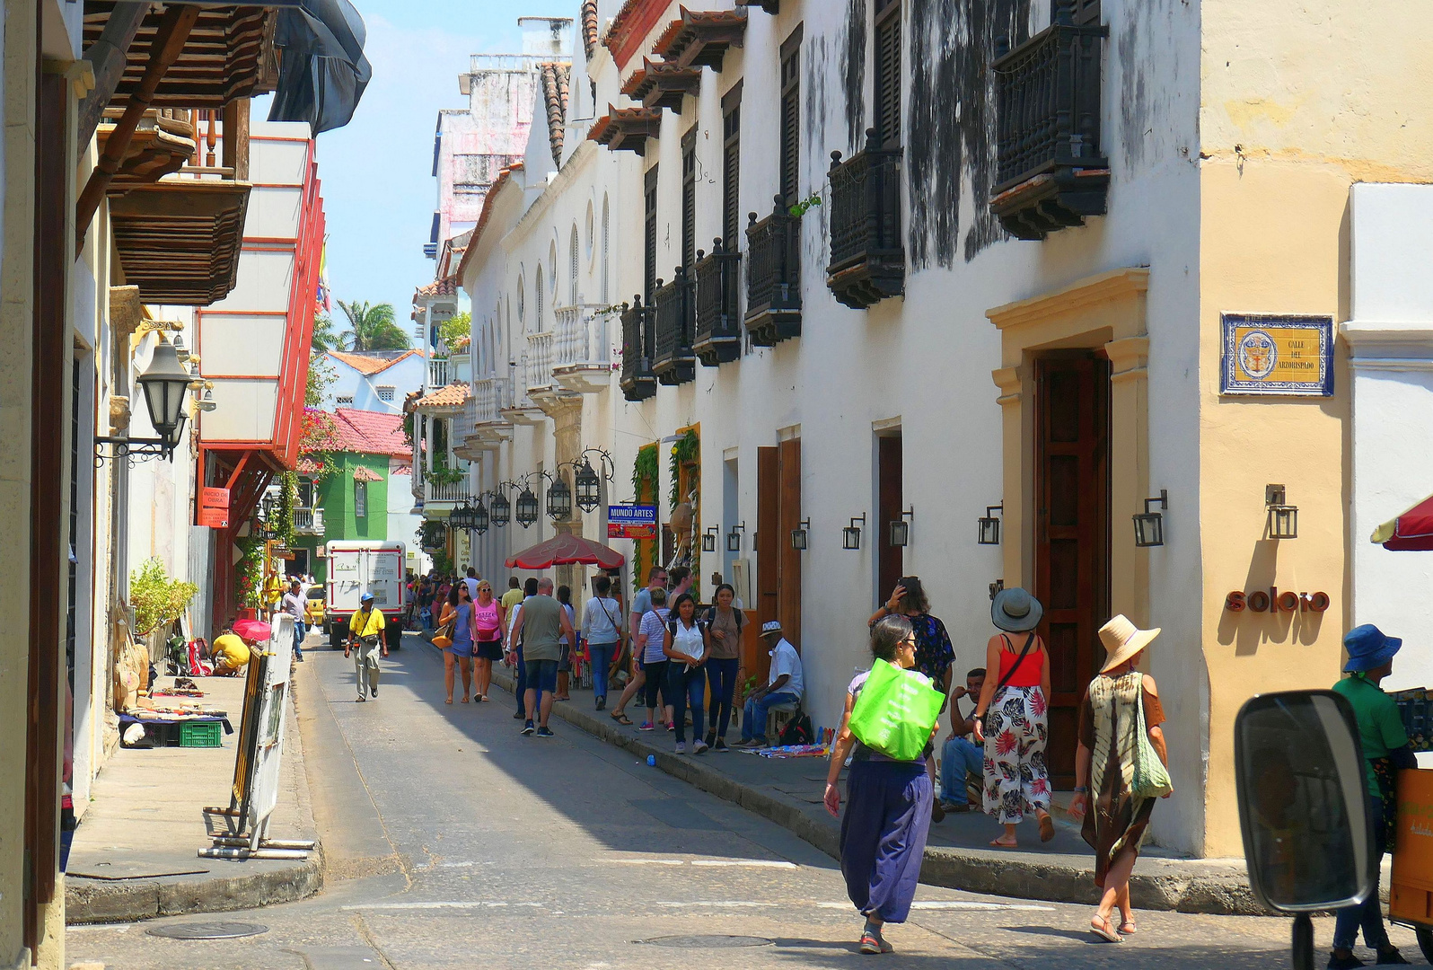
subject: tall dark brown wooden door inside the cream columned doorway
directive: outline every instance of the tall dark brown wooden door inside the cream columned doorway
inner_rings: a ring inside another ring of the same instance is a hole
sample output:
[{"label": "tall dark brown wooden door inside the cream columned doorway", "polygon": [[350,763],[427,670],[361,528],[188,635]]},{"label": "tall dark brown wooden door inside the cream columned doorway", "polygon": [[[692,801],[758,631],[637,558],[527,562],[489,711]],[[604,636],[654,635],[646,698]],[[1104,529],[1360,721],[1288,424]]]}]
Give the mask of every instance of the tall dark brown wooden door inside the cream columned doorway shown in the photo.
[{"label": "tall dark brown wooden door inside the cream columned doorway", "polygon": [[1109,615],[1109,362],[1093,352],[1036,361],[1035,595],[1050,653],[1049,765],[1075,784],[1079,702]]}]

